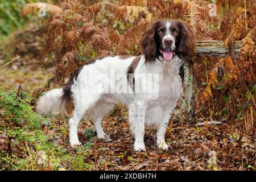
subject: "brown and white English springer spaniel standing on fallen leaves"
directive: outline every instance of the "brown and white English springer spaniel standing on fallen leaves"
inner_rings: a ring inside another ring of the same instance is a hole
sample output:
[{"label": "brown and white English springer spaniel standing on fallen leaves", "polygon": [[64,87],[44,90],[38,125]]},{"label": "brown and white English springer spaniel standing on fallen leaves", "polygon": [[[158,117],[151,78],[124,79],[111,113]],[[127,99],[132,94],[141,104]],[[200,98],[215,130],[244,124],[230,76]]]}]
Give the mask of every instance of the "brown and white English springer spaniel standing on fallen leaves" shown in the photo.
[{"label": "brown and white English springer spaniel standing on fallen leaves", "polygon": [[164,138],[183,92],[183,63],[195,55],[193,34],[178,20],[158,20],[143,32],[141,45],[141,56],[105,56],[86,61],[63,88],[39,98],[38,113],[64,110],[72,97],[75,109],[69,119],[69,142],[80,146],[77,127],[82,117],[90,114],[97,137],[109,140],[101,121],[121,102],[129,109],[134,150],[146,150],[145,125],[157,127],[157,146],[168,150]]}]

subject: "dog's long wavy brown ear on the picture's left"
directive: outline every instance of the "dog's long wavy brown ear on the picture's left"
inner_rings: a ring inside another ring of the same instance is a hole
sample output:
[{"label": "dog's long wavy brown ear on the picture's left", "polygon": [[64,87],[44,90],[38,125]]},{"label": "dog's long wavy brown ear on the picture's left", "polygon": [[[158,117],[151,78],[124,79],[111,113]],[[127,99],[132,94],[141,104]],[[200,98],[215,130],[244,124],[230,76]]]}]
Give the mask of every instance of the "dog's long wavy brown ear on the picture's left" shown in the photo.
[{"label": "dog's long wavy brown ear on the picture's left", "polygon": [[145,63],[154,63],[156,57],[155,28],[159,21],[152,23],[141,38],[142,52],[145,56]]}]

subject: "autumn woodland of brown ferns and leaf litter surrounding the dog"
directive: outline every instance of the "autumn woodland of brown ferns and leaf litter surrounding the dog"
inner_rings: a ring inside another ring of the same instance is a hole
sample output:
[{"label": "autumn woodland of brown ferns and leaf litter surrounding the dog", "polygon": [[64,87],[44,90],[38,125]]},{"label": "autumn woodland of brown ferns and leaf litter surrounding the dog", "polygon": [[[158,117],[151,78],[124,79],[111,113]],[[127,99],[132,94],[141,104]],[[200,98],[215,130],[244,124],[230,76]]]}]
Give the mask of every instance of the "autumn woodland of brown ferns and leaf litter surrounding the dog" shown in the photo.
[{"label": "autumn woodland of brown ferns and leaf litter surrounding the dog", "polygon": [[[40,1],[47,3],[43,17],[36,0],[0,2],[0,170],[256,169],[255,1],[49,0]],[[216,16],[209,16],[210,3]],[[123,105],[103,122],[112,142],[98,140],[84,117],[77,148],[68,144],[72,109],[55,117],[35,113],[36,98],[88,59],[138,55],[145,27],[165,18],[183,20],[197,41],[222,41],[229,51],[197,54],[189,65],[193,110],[172,117],[168,152],[156,149],[154,130],[146,130],[147,152],[133,151]]]}]

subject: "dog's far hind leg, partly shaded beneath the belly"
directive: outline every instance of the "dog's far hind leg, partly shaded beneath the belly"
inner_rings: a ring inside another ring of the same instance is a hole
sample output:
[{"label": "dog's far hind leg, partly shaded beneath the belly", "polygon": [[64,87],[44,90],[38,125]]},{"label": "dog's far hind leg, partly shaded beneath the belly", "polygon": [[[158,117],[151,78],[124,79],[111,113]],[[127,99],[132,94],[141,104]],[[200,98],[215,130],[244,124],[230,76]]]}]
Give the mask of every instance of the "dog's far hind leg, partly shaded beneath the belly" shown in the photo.
[{"label": "dog's far hind leg, partly shaded beneath the belly", "polygon": [[98,139],[104,139],[106,142],[111,141],[109,135],[106,135],[102,129],[101,122],[106,114],[108,114],[115,105],[112,103],[104,102],[97,104],[92,111],[92,121],[94,123]]}]

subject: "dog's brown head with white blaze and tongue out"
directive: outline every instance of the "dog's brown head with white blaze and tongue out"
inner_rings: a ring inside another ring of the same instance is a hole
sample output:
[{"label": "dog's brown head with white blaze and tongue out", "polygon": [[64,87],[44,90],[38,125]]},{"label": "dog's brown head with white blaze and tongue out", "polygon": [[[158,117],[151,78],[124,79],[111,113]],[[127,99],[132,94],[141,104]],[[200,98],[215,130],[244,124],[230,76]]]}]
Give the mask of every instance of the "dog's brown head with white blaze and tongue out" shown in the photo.
[{"label": "dog's brown head with white blaze and tongue out", "polygon": [[192,31],[178,20],[154,22],[141,38],[145,63],[154,63],[155,58],[171,61],[174,55],[183,60],[192,60],[196,53]]}]

